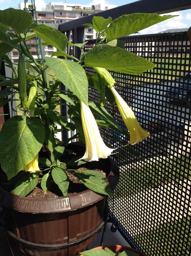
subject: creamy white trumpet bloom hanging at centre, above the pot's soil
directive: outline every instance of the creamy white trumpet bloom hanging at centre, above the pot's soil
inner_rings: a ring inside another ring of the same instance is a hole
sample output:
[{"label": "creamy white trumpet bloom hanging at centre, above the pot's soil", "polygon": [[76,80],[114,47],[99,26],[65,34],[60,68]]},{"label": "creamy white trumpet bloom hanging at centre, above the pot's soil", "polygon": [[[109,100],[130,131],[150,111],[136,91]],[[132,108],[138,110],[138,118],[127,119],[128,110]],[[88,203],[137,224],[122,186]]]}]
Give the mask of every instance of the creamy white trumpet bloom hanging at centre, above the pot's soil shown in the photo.
[{"label": "creamy white trumpet bloom hanging at centre, above the pot's soil", "polygon": [[79,160],[84,159],[86,161],[98,161],[99,158],[107,158],[110,156],[114,149],[108,148],[105,145],[91,110],[82,101],[81,118],[86,140],[86,152]]}]

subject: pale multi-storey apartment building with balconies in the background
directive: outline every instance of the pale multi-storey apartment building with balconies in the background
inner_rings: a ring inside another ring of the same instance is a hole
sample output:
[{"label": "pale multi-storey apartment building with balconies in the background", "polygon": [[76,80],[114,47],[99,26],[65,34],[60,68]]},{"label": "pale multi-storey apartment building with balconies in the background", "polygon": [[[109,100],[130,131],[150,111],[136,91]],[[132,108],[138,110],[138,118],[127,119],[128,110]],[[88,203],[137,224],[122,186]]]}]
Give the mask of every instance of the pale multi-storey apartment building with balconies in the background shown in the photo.
[{"label": "pale multi-storey apartment building with balconies in the background", "polygon": [[[26,7],[28,7],[30,1],[26,3]],[[20,2],[18,4],[18,9],[24,9],[24,2]],[[75,3],[64,3],[64,2],[50,2],[46,5],[46,8],[42,10],[41,8],[36,7],[36,19],[39,24],[44,23],[46,25],[50,25],[52,27],[58,27],[58,24],[68,22],[70,20],[79,19],[84,16],[101,12],[104,10],[112,9],[117,7],[115,4],[97,4],[97,5],[88,5],[88,4],[75,4]],[[85,29],[85,38],[94,39],[96,37],[96,32],[92,28]],[[35,40],[31,40],[30,51],[35,59],[38,59]],[[52,52],[55,51],[51,45],[43,47],[44,56],[51,56]],[[18,61],[18,51],[13,50],[12,59],[14,62]]]}]

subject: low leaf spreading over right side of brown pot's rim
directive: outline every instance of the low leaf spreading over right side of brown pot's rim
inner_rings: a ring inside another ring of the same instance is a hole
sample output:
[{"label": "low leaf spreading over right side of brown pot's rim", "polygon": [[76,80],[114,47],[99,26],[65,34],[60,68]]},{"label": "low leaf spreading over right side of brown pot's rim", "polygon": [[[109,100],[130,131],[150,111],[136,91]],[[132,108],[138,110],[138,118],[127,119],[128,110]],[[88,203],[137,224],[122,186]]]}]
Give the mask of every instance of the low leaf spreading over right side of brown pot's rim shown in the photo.
[{"label": "low leaf spreading over right side of brown pot's rim", "polygon": [[86,174],[75,173],[75,176],[82,182],[87,188],[94,192],[104,194],[107,196],[113,196],[113,191],[109,185],[101,178],[89,176]]}]

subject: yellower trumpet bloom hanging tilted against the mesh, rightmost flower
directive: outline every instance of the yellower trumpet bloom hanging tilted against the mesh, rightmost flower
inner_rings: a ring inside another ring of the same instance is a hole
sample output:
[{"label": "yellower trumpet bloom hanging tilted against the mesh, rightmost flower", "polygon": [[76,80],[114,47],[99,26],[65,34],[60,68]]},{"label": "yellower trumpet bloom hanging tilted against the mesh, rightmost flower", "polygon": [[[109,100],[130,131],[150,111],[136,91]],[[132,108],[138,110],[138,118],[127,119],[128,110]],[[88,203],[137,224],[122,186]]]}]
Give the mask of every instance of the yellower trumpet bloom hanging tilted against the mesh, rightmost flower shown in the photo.
[{"label": "yellower trumpet bloom hanging tilted against the mesh, rightmost flower", "polygon": [[122,119],[129,131],[130,141],[129,144],[139,143],[143,138],[147,138],[149,136],[149,132],[146,132],[140,125],[139,122],[131,110],[131,108],[127,105],[124,99],[118,94],[115,88],[110,87],[116,102],[120,114],[122,115]]}]

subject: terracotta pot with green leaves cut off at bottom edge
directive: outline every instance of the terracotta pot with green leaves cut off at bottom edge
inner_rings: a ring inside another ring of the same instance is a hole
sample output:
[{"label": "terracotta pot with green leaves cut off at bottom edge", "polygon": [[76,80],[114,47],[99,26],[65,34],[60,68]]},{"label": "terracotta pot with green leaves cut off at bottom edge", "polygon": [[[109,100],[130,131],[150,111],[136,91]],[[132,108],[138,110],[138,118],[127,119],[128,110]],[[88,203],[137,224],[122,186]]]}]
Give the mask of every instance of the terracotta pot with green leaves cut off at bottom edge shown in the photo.
[{"label": "terracotta pot with green leaves cut off at bottom edge", "polygon": [[105,245],[80,253],[81,256],[146,256],[146,254],[122,245]]}]

